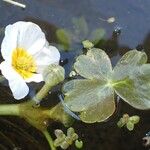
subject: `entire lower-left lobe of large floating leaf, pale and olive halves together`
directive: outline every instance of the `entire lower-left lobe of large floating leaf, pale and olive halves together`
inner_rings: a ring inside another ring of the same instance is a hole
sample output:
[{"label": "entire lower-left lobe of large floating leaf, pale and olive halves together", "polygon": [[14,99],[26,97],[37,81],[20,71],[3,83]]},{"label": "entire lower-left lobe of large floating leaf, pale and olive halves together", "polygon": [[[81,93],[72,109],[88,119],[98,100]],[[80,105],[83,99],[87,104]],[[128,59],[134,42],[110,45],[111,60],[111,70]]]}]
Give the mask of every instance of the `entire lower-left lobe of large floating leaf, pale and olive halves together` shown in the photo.
[{"label": "entire lower-left lobe of large floating leaf, pale and olive halves together", "polygon": [[65,104],[79,112],[81,120],[88,123],[101,122],[115,111],[113,90],[106,81],[72,80],[64,85]]}]

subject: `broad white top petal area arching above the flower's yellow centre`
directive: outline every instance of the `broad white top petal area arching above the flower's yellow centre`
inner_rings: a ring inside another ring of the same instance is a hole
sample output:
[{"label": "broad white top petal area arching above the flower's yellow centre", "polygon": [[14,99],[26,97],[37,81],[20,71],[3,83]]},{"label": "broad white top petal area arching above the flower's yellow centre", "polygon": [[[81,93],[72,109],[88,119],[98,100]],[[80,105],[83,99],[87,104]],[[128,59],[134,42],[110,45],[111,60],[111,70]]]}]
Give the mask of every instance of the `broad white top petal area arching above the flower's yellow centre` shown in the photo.
[{"label": "broad white top petal area arching above the flower's yellow centre", "polygon": [[46,44],[46,38],[38,25],[32,22],[18,21],[8,25],[1,45],[2,56],[11,61],[12,51],[21,47],[30,54],[40,51]]}]

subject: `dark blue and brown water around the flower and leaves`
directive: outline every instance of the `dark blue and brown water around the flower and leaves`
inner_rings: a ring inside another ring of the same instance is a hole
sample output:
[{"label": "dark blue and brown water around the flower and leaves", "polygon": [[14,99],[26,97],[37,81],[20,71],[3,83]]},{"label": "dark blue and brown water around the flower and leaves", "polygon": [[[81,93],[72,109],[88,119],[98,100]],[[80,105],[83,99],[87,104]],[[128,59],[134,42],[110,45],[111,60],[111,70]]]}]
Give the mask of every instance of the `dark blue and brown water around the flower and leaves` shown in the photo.
[{"label": "dark blue and brown water around the flower and leaves", "polygon": [[[84,17],[89,30],[104,28],[105,42],[99,42],[97,47],[103,48],[116,64],[117,60],[128,50],[137,48],[145,50],[150,56],[150,1],[149,0],[20,0],[27,5],[25,10],[0,1],[0,27],[19,20],[33,21],[40,25],[47,40],[58,44],[55,32],[59,28],[74,30],[72,18]],[[112,24],[101,21],[115,17]],[[121,28],[121,34],[114,34],[116,28]],[[0,42],[3,35],[0,36]],[[80,41],[81,42],[81,41]],[[74,57],[82,51],[82,45],[74,43],[71,51],[61,51],[66,74],[71,70]],[[6,99],[12,101],[10,91],[1,86],[1,103]],[[55,94],[49,98],[56,97]],[[118,129],[117,120],[122,114],[139,115],[140,123],[132,132]],[[63,128],[61,124],[53,123],[50,132]],[[139,111],[120,101],[114,116],[105,123],[84,124],[76,122],[74,128],[84,141],[84,150],[145,150],[142,137],[150,130],[150,111]],[[0,150],[48,150],[44,136],[29,124],[18,118],[0,118]],[[74,149],[73,147],[70,149]]]}]

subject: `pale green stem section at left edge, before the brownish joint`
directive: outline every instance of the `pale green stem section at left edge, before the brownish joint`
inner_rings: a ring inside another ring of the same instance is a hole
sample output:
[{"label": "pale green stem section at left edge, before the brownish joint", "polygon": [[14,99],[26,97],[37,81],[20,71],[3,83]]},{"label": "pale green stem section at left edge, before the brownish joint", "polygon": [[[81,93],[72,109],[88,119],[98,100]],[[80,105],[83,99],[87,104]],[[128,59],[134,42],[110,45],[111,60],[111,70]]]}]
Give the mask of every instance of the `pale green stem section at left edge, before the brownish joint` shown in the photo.
[{"label": "pale green stem section at left edge, before the brownish joint", "polygon": [[19,104],[1,104],[0,115],[19,116]]}]

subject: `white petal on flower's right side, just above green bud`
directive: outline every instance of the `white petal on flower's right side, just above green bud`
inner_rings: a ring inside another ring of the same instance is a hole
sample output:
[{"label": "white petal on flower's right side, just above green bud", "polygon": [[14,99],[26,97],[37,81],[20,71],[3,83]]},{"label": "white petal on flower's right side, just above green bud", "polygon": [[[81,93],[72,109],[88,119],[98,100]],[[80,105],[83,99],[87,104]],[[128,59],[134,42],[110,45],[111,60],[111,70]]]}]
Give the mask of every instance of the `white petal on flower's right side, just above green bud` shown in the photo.
[{"label": "white petal on flower's right side, just above green bud", "polygon": [[42,73],[43,69],[50,64],[58,64],[60,60],[60,53],[54,46],[44,47],[39,53],[34,55],[38,72]]}]

